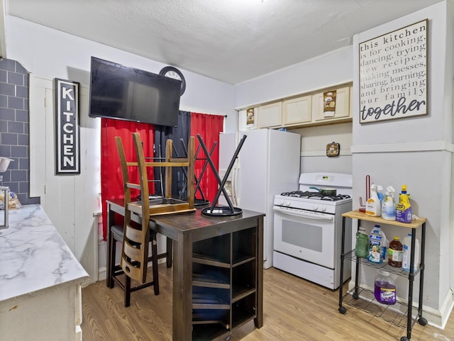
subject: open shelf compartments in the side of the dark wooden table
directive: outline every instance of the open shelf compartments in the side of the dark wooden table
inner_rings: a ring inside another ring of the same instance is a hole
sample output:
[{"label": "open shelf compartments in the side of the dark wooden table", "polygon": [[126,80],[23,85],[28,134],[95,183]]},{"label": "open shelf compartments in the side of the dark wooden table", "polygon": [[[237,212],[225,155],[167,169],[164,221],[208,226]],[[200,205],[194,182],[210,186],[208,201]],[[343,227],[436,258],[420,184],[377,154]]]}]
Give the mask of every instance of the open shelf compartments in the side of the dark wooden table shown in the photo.
[{"label": "open shelf compartments in the side of the dark wooden table", "polygon": [[257,228],[194,242],[193,340],[225,340],[257,318],[257,251]]}]

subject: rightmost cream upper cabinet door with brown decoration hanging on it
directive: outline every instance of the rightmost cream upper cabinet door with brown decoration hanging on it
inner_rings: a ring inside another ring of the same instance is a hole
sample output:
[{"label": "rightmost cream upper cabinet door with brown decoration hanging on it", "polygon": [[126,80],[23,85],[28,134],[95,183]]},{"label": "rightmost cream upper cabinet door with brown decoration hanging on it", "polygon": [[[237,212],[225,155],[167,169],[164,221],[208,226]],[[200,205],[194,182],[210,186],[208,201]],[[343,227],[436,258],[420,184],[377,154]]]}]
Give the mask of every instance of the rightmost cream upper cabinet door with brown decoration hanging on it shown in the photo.
[{"label": "rightmost cream upper cabinet door with brown decoration hanging on it", "polygon": [[312,120],[331,121],[349,118],[350,86],[326,89],[312,96]]}]

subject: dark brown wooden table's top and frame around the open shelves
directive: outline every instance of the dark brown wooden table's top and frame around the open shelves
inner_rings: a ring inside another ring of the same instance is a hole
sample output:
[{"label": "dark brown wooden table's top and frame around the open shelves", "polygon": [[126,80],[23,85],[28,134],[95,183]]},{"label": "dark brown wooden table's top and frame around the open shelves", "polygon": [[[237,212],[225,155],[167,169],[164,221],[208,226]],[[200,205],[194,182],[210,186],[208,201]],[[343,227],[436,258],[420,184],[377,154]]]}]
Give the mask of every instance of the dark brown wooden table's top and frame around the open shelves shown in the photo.
[{"label": "dark brown wooden table's top and frame around the open shelves", "polygon": [[[107,201],[108,231],[114,223],[114,213],[124,215],[123,200]],[[172,298],[172,340],[192,340],[192,276],[193,276],[193,245],[194,242],[209,240],[221,235],[237,233],[242,230],[256,229],[254,236],[253,262],[255,267],[255,306],[253,319],[255,326],[263,325],[263,213],[243,211],[240,216],[209,217],[200,210],[191,213],[176,213],[163,216],[151,216],[151,228],[165,235],[173,242],[173,298]],[[133,217],[133,220],[139,217]],[[232,237],[233,244],[236,238]],[[235,245],[233,245],[233,249]],[[108,274],[109,276],[109,274]],[[233,291],[233,289],[231,289]],[[231,307],[232,310],[232,307]],[[232,315],[232,313],[230,313]],[[230,325],[222,337],[231,330],[240,327]],[[216,340],[218,337],[216,336]]]}]

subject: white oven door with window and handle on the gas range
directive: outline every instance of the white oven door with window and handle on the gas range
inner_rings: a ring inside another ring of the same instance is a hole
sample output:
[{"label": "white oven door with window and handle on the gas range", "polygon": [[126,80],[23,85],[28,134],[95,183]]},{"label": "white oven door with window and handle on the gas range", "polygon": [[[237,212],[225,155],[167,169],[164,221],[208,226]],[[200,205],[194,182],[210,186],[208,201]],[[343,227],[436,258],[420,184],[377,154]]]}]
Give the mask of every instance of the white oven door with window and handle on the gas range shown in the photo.
[{"label": "white oven door with window and handle on the gas range", "polygon": [[334,215],[280,206],[275,206],[273,211],[275,251],[334,269]]}]

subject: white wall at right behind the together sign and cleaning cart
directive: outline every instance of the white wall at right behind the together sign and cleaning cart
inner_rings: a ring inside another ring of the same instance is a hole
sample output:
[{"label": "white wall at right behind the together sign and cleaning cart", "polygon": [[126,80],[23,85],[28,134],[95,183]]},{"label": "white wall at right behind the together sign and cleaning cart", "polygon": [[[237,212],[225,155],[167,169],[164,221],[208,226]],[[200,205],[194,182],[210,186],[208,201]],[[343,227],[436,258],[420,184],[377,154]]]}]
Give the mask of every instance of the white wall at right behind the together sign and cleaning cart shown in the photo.
[{"label": "white wall at right behind the together sign and cleaning cart", "polygon": [[[428,115],[361,125],[359,106],[353,106],[353,207],[359,207],[355,198],[365,193],[366,174],[384,188],[392,185],[400,190],[402,184],[408,186],[413,213],[428,218],[423,305],[424,317],[436,325],[445,323],[453,304],[453,262],[449,257],[453,245],[453,43],[447,44],[453,40],[453,32],[446,30],[446,6],[443,1],[353,38],[353,65],[359,65],[359,43],[428,18]],[[359,70],[355,67],[353,103],[359,103],[358,79]],[[390,239],[393,235],[402,238],[408,231],[389,228],[385,232]]]}]

